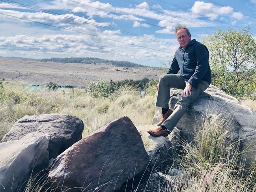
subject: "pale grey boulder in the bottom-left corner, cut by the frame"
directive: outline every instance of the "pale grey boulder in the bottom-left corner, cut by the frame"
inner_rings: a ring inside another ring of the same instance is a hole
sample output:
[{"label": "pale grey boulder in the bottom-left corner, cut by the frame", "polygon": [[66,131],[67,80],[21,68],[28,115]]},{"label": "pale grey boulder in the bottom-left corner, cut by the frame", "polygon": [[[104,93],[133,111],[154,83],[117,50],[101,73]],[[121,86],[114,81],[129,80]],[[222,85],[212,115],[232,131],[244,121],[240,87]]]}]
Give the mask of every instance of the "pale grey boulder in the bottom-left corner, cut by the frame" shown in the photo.
[{"label": "pale grey boulder in the bottom-left corner, cut by the frame", "polygon": [[23,191],[32,171],[47,167],[47,147],[47,138],[34,134],[0,143],[0,191]]}]

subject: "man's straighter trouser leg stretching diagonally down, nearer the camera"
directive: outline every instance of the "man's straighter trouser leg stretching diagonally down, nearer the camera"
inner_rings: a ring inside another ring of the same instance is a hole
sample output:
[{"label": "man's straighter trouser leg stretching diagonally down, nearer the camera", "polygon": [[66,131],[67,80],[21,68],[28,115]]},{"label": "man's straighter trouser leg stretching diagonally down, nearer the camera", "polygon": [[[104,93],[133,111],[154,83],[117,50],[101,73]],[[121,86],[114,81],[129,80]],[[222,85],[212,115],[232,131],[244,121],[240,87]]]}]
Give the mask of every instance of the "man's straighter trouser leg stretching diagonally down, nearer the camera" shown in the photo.
[{"label": "man's straighter trouser leg stretching diagonally down, nearer the camera", "polygon": [[181,99],[175,104],[174,110],[172,114],[164,121],[162,126],[166,127],[170,132],[174,129],[176,124],[179,122],[179,119],[186,112],[189,104],[191,104],[198,95],[200,95],[203,91],[205,91],[209,87],[209,84],[206,81],[201,81],[198,83],[198,88],[191,88],[191,95],[189,94],[187,97],[181,95]]}]

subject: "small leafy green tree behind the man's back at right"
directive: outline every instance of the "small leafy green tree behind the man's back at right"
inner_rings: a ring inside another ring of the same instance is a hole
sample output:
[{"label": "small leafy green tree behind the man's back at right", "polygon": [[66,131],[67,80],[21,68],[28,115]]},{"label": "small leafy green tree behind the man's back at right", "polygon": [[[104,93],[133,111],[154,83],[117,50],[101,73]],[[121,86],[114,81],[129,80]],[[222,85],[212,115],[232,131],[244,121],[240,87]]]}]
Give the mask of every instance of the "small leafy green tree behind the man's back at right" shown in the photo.
[{"label": "small leafy green tree behind the man's back at right", "polygon": [[248,29],[206,35],[212,84],[234,97],[255,97],[256,43]]}]

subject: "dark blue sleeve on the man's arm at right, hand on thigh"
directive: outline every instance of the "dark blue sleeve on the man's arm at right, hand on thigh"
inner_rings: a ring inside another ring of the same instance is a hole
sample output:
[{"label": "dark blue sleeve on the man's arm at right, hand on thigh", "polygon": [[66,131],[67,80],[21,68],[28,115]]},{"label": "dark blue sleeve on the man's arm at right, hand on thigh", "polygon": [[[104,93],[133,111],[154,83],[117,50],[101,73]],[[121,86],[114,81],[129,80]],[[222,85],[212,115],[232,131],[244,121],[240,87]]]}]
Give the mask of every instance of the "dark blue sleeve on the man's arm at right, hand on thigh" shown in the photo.
[{"label": "dark blue sleeve on the man's arm at right, hand on thigh", "polygon": [[198,88],[198,83],[204,77],[209,66],[209,51],[205,45],[198,43],[195,46],[196,69],[188,82],[194,88]]}]

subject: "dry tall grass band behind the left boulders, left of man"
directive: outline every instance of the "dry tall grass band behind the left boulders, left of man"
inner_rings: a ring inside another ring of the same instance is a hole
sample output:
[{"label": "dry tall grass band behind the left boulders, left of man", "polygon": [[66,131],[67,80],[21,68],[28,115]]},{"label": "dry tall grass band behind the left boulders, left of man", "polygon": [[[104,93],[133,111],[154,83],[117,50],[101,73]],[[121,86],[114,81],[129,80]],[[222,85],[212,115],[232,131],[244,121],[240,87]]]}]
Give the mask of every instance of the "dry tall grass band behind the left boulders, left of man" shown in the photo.
[{"label": "dry tall grass band behind the left boulders, left of man", "polygon": [[82,93],[75,93],[73,101],[70,93],[30,91],[9,81],[4,81],[3,85],[4,88],[0,89],[0,138],[25,115],[60,113],[76,116],[84,122],[83,136],[118,117],[128,116],[135,125],[145,125],[151,123],[154,115],[154,95],[145,94],[140,98],[138,92],[131,92],[135,90],[129,87],[120,89],[109,98],[94,98],[80,90]]}]

